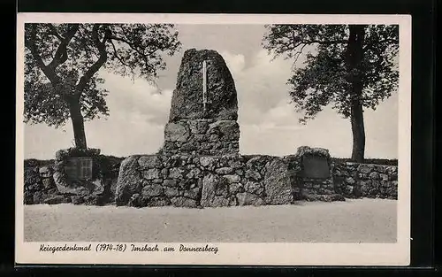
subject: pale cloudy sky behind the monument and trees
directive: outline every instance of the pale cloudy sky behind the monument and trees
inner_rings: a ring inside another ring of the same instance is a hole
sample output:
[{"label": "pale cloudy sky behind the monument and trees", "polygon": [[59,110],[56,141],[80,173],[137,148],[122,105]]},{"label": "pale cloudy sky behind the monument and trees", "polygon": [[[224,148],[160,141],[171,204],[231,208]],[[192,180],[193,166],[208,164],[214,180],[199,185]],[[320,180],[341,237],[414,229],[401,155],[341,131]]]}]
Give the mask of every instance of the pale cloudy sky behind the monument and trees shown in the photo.
[{"label": "pale cloudy sky behind the monument and trees", "polygon": [[[103,154],[126,157],[155,153],[164,142],[164,125],[171,107],[179,64],[191,48],[217,50],[228,65],[238,94],[240,153],[285,156],[302,145],[330,150],[331,156],[348,158],[352,150],[349,119],[325,107],[316,119],[300,125],[288,96],[287,79],[293,61],[263,50],[265,29],[258,25],[177,25],[182,49],[164,57],[166,69],[156,86],[101,70],[109,90],[110,116],[85,123],[88,147]],[[299,58],[295,66],[302,66]],[[366,158],[398,157],[398,95],[393,93],[376,111],[364,112]],[[25,158],[54,158],[55,152],[73,146],[72,125],[58,129],[26,124]]]}]

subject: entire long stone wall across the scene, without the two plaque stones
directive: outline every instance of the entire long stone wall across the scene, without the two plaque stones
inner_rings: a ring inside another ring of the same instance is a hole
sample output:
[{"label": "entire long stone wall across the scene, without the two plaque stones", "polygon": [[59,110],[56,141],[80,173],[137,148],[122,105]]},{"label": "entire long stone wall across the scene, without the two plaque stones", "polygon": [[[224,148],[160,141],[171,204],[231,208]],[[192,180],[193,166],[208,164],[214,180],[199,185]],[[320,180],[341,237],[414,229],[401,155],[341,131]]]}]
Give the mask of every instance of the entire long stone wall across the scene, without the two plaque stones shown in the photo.
[{"label": "entire long stone wall across the scene, without the two plaque stones", "polygon": [[139,155],[126,158],[121,166],[119,160],[108,162],[105,193],[84,196],[61,193],[54,181],[54,166],[27,165],[24,204],[218,207],[398,196],[395,165],[334,162],[331,184],[301,181],[296,155]]}]

